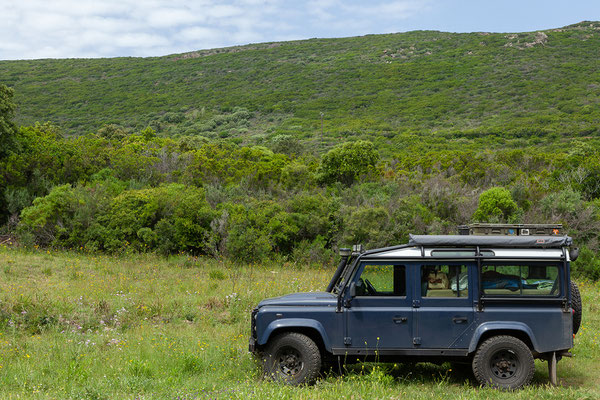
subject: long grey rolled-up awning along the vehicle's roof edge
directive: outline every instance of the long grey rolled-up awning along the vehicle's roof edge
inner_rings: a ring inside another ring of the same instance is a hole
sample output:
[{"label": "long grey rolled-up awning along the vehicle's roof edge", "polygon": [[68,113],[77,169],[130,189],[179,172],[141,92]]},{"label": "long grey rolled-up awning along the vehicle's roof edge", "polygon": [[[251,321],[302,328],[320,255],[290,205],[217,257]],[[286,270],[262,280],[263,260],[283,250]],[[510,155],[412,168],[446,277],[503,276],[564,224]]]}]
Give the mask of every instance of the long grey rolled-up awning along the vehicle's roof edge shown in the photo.
[{"label": "long grey rolled-up awning along the vehicle's roof edge", "polygon": [[569,236],[504,236],[504,235],[409,235],[411,246],[427,247],[521,247],[521,248],[561,248],[571,246]]}]

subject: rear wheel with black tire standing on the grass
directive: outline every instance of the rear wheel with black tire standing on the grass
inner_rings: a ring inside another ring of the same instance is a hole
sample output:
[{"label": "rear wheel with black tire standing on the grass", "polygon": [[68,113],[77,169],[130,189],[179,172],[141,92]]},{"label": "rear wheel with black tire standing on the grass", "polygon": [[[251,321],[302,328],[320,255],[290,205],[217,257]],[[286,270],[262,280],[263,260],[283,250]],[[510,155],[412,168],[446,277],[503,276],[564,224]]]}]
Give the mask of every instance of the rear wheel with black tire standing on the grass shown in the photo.
[{"label": "rear wheel with black tire standing on the grass", "polygon": [[517,390],[533,378],[531,350],[513,336],[494,336],[479,346],[473,358],[473,374],[482,386]]}]

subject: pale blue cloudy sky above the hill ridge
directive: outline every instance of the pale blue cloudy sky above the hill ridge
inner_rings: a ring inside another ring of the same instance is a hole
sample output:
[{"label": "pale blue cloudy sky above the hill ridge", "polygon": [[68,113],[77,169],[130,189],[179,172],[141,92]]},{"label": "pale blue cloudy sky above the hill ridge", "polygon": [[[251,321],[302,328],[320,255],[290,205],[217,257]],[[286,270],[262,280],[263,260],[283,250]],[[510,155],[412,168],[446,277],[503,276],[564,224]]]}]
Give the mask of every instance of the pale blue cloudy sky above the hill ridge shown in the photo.
[{"label": "pale blue cloudy sky above the hill ridge", "polygon": [[160,56],[417,29],[522,32],[582,20],[600,20],[600,0],[0,0],[0,59]]}]

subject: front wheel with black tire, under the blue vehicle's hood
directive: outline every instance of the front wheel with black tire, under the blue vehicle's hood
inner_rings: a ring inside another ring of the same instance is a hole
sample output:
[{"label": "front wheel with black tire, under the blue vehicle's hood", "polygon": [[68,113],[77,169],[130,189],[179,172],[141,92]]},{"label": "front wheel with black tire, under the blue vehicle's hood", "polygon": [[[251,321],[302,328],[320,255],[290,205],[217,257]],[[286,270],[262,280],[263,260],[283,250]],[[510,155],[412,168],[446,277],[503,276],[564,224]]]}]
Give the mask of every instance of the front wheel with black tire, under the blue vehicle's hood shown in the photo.
[{"label": "front wheel with black tire, under the blue vehicle's hood", "polygon": [[321,353],[315,342],[296,332],[270,341],[263,355],[265,375],[288,385],[310,385],[321,370]]}]

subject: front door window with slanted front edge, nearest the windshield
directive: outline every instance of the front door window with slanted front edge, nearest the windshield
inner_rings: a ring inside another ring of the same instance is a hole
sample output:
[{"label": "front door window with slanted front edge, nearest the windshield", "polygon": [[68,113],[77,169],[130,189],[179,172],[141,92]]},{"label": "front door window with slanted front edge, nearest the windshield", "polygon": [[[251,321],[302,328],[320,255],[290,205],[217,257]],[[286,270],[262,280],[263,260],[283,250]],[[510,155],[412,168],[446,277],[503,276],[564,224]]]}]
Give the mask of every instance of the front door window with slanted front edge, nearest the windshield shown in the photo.
[{"label": "front door window with slanted front edge, nearest the windshield", "polygon": [[357,296],[406,296],[404,265],[367,264],[356,283]]}]

